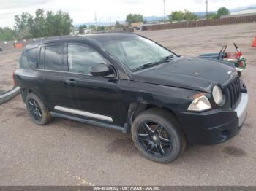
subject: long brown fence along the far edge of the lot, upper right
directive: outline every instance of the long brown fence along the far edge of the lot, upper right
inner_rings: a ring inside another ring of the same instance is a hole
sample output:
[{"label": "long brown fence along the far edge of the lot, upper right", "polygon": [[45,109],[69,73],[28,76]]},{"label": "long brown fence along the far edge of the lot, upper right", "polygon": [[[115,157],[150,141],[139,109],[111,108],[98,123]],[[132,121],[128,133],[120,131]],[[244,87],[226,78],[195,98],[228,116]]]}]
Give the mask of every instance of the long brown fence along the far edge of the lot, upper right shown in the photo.
[{"label": "long brown fence along the far edge of the lot, upper right", "polygon": [[221,26],[236,23],[252,23],[256,22],[256,15],[249,15],[243,17],[225,17],[216,20],[197,20],[197,21],[182,21],[178,23],[165,23],[142,26],[142,31],[154,31],[174,28],[191,28],[201,26]]}]

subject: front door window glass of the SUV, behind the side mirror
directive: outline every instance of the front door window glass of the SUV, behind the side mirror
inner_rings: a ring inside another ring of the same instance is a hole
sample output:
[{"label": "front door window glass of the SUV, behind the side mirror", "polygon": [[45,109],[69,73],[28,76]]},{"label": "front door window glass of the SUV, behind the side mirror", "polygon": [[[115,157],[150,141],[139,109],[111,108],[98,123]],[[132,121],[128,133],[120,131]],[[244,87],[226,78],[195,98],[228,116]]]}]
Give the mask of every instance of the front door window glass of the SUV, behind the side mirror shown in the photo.
[{"label": "front door window glass of the SUV, behind the side mirror", "polygon": [[98,63],[106,63],[96,50],[89,47],[70,44],[67,52],[70,72],[91,74],[91,67]]}]

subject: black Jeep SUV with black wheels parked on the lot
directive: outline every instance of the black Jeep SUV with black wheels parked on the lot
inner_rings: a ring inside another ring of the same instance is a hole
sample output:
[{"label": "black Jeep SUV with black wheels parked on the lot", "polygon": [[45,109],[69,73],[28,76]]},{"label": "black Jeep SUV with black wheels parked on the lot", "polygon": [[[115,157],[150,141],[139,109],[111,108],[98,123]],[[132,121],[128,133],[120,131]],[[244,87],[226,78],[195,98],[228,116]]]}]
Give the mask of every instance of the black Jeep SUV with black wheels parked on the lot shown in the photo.
[{"label": "black Jeep SUV with black wheels parked on the lot", "polygon": [[159,163],[175,160],[187,142],[231,139],[246,118],[247,90],[233,66],[185,58],[135,34],[34,42],[14,79],[35,123],[65,117],[131,132]]}]

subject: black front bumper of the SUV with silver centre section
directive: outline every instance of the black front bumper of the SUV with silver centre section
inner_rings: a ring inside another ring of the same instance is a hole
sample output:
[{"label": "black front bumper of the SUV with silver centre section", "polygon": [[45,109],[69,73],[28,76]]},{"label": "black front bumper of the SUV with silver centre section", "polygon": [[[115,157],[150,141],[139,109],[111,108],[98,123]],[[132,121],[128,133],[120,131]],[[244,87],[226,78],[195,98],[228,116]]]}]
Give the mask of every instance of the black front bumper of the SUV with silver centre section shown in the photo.
[{"label": "black front bumper of the SUV with silver centre section", "polygon": [[246,119],[248,101],[248,94],[241,93],[235,110],[180,112],[177,117],[190,144],[218,144],[239,133]]}]

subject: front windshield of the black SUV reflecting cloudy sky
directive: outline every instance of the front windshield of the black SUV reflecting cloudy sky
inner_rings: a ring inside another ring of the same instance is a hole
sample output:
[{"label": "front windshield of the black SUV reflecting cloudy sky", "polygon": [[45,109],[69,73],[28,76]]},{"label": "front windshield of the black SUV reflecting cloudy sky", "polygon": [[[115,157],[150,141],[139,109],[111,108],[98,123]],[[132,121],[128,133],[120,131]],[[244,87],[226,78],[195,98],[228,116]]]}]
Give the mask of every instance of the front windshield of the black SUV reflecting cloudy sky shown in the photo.
[{"label": "front windshield of the black SUV reflecting cloudy sky", "polygon": [[111,39],[111,42],[103,42],[102,46],[132,71],[147,64],[153,66],[149,63],[160,63],[162,59],[170,58],[173,55],[164,47],[141,36]]}]

